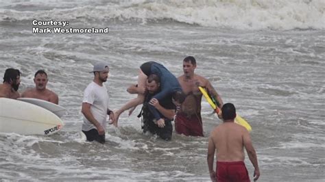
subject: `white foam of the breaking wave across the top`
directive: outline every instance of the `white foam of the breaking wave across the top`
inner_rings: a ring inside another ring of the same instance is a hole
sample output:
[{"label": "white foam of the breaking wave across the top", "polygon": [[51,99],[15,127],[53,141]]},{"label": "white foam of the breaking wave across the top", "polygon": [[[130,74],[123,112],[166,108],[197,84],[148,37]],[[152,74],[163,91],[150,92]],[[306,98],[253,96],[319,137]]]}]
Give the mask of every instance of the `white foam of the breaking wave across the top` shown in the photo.
[{"label": "white foam of the breaking wave across the top", "polygon": [[[78,5],[79,3],[79,5]],[[26,4],[26,5],[25,5]],[[62,20],[93,19],[107,21],[172,20],[206,27],[237,29],[324,29],[325,2],[322,0],[183,0],[183,1],[120,1],[101,3],[95,7],[80,1],[71,3],[48,2],[50,10],[30,11],[39,1],[3,5],[1,21],[23,21],[34,18]],[[27,10],[23,10],[25,8]],[[43,2],[42,2],[42,5]],[[65,8],[60,8],[60,5]],[[67,8],[68,7],[68,8]]]}]

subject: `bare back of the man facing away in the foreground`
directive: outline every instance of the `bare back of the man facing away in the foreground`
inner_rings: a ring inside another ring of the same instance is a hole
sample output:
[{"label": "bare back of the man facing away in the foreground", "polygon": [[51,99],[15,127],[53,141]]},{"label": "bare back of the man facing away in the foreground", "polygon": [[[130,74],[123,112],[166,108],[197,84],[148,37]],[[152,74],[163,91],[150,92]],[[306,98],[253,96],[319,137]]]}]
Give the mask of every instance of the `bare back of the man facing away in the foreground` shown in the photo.
[{"label": "bare back of the man facing away in the foreground", "polygon": [[234,122],[224,122],[215,128],[211,136],[215,143],[217,161],[244,161],[244,135],[248,131]]}]

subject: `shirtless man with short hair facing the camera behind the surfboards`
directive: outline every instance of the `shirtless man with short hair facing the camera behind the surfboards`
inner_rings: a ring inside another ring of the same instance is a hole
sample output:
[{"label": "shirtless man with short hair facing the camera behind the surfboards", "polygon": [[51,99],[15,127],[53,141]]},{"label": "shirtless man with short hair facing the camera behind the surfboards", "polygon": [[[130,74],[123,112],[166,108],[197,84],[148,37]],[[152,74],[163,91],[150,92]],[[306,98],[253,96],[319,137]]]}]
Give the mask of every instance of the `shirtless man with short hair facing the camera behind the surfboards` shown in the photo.
[{"label": "shirtless man with short hair facing the camera behind the surfboards", "polygon": [[34,76],[35,88],[26,90],[23,92],[23,94],[21,94],[21,97],[42,99],[51,103],[58,104],[58,95],[46,88],[47,81],[49,80],[47,79],[47,73],[45,73],[45,70],[38,70]]}]

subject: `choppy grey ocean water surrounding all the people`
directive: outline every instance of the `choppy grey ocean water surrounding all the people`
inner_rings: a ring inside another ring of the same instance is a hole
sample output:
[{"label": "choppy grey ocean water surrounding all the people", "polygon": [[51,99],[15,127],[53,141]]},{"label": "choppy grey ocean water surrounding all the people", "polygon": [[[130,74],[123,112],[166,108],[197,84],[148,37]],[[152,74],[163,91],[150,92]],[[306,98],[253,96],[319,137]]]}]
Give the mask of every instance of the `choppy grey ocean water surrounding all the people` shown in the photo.
[{"label": "choppy grey ocean water surrounding all the people", "polygon": [[[0,74],[19,68],[23,92],[44,68],[67,108],[55,135],[0,133],[0,181],[209,181],[208,135],[221,120],[206,101],[203,138],[143,134],[140,107],[122,114],[118,128],[108,126],[106,144],[80,138],[92,64],[110,64],[105,84],[110,109],[118,109],[135,97],[126,88],[143,62],[160,62],[178,77],[188,55],[250,122],[258,181],[325,181],[324,1],[0,2]],[[109,33],[33,34],[34,20]]]}]

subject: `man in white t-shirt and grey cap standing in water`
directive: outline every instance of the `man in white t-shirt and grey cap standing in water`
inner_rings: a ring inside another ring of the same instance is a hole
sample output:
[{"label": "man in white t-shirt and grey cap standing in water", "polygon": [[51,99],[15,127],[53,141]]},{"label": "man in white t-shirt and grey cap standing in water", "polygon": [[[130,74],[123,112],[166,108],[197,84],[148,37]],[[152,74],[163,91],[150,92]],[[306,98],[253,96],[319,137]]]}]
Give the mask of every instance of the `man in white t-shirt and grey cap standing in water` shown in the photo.
[{"label": "man in white t-shirt and grey cap standing in water", "polygon": [[94,65],[94,79],[84,90],[84,100],[82,101],[82,114],[84,114],[84,124],[82,132],[86,135],[87,141],[97,141],[105,143],[106,116],[110,116],[111,122],[116,125],[114,112],[108,109],[108,93],[103,84],[108,79],[109,67],[105,62]]}]

